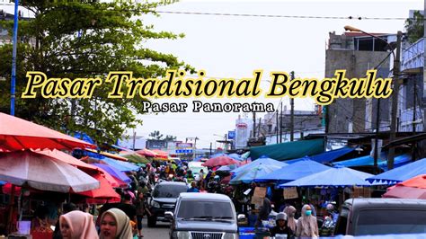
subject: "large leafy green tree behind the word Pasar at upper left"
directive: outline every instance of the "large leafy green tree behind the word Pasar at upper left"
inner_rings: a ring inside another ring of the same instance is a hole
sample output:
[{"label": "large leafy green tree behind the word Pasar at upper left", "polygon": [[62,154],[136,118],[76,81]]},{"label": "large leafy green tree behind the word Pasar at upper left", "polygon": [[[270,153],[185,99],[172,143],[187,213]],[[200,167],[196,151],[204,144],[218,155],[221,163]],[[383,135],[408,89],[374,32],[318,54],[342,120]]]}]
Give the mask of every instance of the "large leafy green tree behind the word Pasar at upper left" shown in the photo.
[{"label": "large leafy green tree behind the word Pasar at upper left", "polygon": [[[82,131],[97,142],[113,143],[126,128],[135,128],[146,99],[109,99],[112,84],[98,86],[90,99],[22,99],[28,71],[48,78],[105,79],[110,71],[132,71],[135,77],[165,75],[167,69],[191,70],[178,58],[144,47],[146,40],[178,39],[154,31],[142,16],[156,14],[153,3],[135,1],[23,0],[34,18],[20,20],[16,81],[16,115],[65,132]],[[173,1],[172,1],[173,2]],[[13,21],[0,21],[10,35]],[[0,75],[10,79],[12,45],[0,47]],[[0,88],[0,111],[9,109],[10,82]],[[124,84],[123,84],[124,86]]]}]

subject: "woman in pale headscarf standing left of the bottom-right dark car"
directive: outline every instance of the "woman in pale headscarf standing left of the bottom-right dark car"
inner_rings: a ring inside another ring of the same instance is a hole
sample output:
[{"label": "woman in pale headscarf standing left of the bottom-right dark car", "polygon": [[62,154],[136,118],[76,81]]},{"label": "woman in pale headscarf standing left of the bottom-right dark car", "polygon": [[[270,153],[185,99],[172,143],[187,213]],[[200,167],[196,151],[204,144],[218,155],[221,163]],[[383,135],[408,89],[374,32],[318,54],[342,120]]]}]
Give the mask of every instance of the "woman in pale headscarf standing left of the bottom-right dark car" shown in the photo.
[{"label": "woman in pale headscarf standing left of the bottom-right dark car", "polygon": [[297,220],[296,236],[299,238],[317,238],[319,236],[316,217],[312,216],[312,208],[309,205],[304,205],[302,208],[302,217]]}]

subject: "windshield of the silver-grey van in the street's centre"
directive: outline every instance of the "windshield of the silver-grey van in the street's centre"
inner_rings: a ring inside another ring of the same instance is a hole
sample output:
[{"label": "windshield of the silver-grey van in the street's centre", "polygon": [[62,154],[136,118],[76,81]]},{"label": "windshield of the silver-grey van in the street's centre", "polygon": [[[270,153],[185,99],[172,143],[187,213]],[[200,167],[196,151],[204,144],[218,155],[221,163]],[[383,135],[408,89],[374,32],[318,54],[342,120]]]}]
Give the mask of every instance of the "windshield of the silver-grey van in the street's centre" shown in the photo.
[{"label": "windshield of the silver-grey van in the street's centre", "polygon": [[177,214],[184,219],[234,219],[231,203],[226,201],[182,200]]}]

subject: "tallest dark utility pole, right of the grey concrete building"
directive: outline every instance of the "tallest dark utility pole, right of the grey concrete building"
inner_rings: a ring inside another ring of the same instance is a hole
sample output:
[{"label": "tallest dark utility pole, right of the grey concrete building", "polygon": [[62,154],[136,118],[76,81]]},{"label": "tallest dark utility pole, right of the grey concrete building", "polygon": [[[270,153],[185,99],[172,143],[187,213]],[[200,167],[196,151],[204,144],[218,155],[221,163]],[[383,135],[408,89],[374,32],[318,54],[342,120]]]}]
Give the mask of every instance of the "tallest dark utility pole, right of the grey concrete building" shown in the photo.
[{"label": "tallest dark utility pole, right of the grey concrete building", "polygon": [[[390,137],[389,143],[392,143],[395,140],[396,132],[396,114],[398,111],[398,95],[399,95],[399,70],[401,62],[399,61],[401,55],[401,38],[403,32],[398,31],[396,34],[396,57],[394,58],[394,95],[392,96],[392,111],[391,111],[391,126],[390,126]],[[387,156],[387,169],[391,170],[394,168],[394,157],[395,157],[395,148],[394,146],[389,147],[389,154]]]}]

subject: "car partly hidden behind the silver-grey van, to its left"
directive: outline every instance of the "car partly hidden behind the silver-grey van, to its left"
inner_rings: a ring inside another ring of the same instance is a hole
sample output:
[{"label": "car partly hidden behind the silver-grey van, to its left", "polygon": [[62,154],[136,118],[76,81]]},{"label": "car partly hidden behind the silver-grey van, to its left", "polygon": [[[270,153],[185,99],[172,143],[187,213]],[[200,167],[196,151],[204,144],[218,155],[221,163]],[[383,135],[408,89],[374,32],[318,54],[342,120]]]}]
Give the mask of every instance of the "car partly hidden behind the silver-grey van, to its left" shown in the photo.
[{"label": "car partly hidden behind the silver-grey van, to its left", "polygon": [[147,209],[151,213],[147,217],[148,226],[156,225],[157,221],[167,222],[164,212],[173,211],[176,199],[181,192],[186,192],[188,185],[178,181],[160,181],[146,199]]}]

